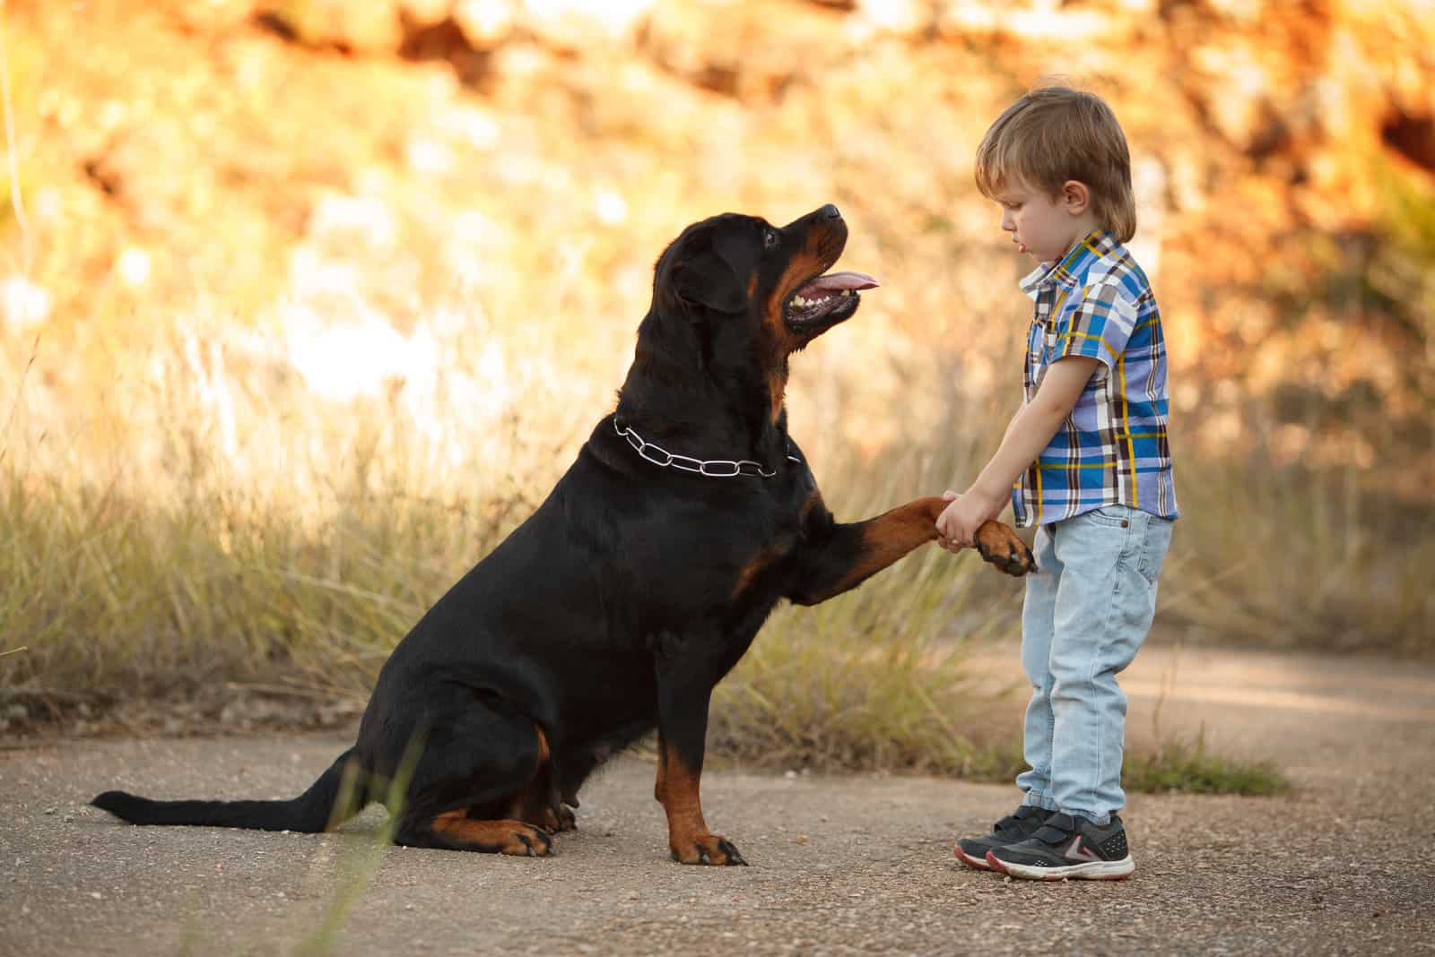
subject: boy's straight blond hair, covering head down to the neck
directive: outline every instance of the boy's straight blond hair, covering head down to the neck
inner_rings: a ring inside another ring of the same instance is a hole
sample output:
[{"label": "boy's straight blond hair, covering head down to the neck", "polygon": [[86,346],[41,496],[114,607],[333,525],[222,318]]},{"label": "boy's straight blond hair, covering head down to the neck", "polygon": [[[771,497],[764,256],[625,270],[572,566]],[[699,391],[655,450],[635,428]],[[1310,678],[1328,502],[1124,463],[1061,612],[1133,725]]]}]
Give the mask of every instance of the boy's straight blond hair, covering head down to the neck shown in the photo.
[{"label": "boy's straight blond hair, covering head down to the neck", "polygon": [[996,117],[977,148],[977,189],[996,199],[1006,185],[1059,196],[1086,183],[1098,222],[1128,242],[1137,232],[1131,152],[1116,115],[1095,93],[1042,86]]}]

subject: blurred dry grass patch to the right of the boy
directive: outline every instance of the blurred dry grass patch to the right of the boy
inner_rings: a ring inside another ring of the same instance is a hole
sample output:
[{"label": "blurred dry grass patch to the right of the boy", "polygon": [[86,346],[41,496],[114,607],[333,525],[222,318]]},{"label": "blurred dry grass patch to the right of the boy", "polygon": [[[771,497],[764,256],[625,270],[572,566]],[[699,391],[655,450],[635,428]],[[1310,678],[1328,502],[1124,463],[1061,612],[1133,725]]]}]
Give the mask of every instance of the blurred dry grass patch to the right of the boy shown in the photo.
[{"label": "blurred dry grass patch to the right of the boy", "polygon": [[1435,507],[1353,467],[1191,461],[1162,570],[1164,620],[1195,640],[1435,652]]}]

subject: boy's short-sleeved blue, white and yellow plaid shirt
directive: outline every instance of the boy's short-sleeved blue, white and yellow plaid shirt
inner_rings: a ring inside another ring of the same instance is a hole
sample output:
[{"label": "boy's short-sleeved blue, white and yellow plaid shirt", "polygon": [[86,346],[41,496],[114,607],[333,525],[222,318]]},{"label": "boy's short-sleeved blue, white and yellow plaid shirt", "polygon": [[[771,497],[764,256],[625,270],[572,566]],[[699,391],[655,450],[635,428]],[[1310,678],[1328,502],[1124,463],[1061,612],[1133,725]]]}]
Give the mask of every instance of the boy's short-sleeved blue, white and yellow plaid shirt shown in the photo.
[{"label": "boy's short-sleeved blue, white and yellow plaid shirt", "polygon": [[1026,401],[1052,362],[1099,360],[1050,444],[1012,487],[1016,524],[1060,521],[1105,504],[1175,519],[1167,443],[1167,355],[1147,274],[1101,229],[1022,279],[1036,301]]}]

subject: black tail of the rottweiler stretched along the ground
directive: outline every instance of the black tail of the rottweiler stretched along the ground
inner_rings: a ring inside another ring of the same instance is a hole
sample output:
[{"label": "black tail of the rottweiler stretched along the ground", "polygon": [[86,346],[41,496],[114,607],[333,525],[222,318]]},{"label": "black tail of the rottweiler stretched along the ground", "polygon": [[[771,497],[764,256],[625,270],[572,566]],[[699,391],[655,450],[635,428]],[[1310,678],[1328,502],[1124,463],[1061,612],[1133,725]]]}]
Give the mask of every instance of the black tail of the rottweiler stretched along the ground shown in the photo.
[{"label": "black tail of the rottweiler stretched along the ground", "polygon": [[[339,827],[366,802],[356,748],[339,755],[309,791],[288,801],[151,801],[125,791],[106,791],[90,801],[131,824],[195,824],[253,831],[317,834]],[[347,792],[347,794],[346,794]]]}]

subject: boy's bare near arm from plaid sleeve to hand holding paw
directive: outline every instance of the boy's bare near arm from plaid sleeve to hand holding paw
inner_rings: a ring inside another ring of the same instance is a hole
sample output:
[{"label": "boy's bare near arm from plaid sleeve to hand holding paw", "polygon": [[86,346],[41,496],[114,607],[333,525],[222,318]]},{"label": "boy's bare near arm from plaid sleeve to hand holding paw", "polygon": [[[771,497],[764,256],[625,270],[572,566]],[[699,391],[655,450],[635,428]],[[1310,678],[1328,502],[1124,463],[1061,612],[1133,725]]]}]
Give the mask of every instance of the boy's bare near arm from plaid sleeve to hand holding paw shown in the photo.
[{"label": "boy's bare near arm from plaid sleeve to hand holding paw", "polygon": [[1012,497],[1012,484],[1036,461],[1062,421],[1072,414],[1098,361],[1088,355],[1068,355],[1046,370],[1036,395],[1007,425],[992,461],[937,519],[937,533],[943,539],[970,546],[977,527],[1002,513]]}]

